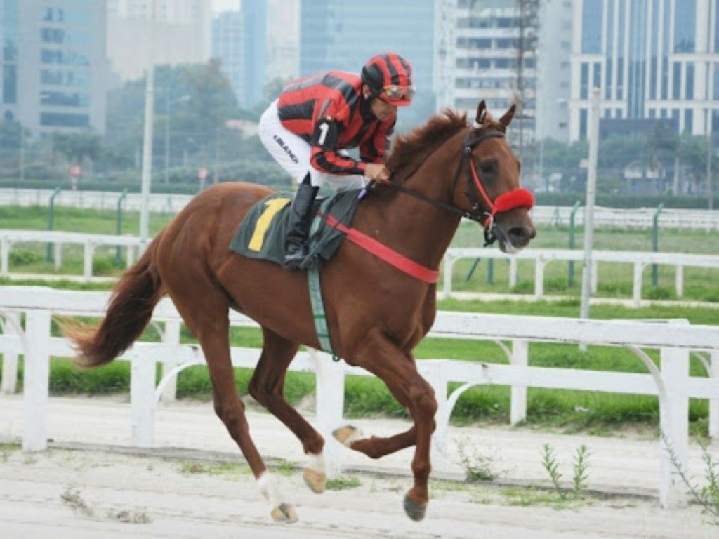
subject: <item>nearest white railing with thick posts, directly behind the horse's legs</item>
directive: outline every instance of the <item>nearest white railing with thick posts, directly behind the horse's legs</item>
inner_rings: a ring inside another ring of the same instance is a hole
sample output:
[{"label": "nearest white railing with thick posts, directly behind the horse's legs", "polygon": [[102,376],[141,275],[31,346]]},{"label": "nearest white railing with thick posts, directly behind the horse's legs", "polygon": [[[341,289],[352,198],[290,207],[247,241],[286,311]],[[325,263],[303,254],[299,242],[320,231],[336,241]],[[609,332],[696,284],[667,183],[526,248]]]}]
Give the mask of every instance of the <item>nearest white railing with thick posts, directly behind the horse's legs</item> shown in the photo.
[{"label": "nearest white railing with thick posts, directly behind the horse's legs", "polygon": [[[12,367],[13,359],[17,364],[17,354],[25,357],[25,451],[42,451],[47,447],[50,358],[73,355],[65,338],[51,336],[51,315],[101,315],[108,298],[104,292],[0,287],[0,313],[5,315],[5,331],[0,335],[5,390],[12,390],[6,387],[6,379],[17,377],[14,372],[6,372],[6,369],[11,370],[8,365]],[[17,313],[24,313],[24,328],[17,323]],[[232,314],[231,321],[234,326],[255,326],[248,318],[236,313]],[[157,401],[168,392],[172,394],[171,386],[178,372],[204,361],[198,346],[180,344],[180,318],[169,300],[162,300],[157,306],[153,323],[164,324],[162,342],[139,342],[122,356],[132,363],[131,436],[135,446],[152,445]],[[719,327],[692,326],[686,321],[595,321],[441,312],[430,336],[495,341],[505,351],[509,363],[446,359],[418,362],[421,373],[434,387],[439,403],[433,438],[433,459],[437,469],[446,466],[443,456],[446,430],[457,399],[470,387],[482,384],[511,387],[512,423],[526,418],[528,387],[657,395],[661,430],[676,455],[676,461],[672,463],[662,446],[659,485],[662,507],[683,502],[684,489],[673,471],[675,464],[687,469],[690,398],[709,400],[710,436],[719,436]],[[529,367],[528,344],[536,341],[624,346],[644,361],[649,374]],[[659,349],[661,367],[656,367],[646,349]],[[708,377],[690,376],[690,354],[698,354]],[[232,348],[232,361],[236,367],[252,368],[258,356],[257,349]],[[8,358],[11,361],[7,361]],[[165,367],[159,383],[155,379],[158,360]],[[326,354],[315,351],[300,352],[290,369],[316,374],[316,425],[328,441],[326,459],[330,469],[339,469],[342,448],[331,438],[331,430],[343,423],[344,377],[370,374],[344,362],[335,363]],[[449,392],[451,382],[461,385]]]}]

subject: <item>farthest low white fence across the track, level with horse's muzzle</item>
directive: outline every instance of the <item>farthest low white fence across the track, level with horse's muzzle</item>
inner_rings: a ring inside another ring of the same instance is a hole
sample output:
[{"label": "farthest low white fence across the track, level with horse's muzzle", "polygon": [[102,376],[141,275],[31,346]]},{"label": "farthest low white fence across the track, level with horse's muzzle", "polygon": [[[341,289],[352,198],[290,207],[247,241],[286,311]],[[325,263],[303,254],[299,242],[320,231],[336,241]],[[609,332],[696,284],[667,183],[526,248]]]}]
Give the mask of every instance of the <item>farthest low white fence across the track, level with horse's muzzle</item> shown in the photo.
[{"label": "farthest low white fence across the track, level with horse's muzzle", "polygon": [[[48,206],[51,189],[0,189],[0,206]],[[111,210],[117,207],[121,193],[103,191],[62,190],[55,197],[55,205],[72,208]],[[184,208],[193,195],[152,193],[148,198],[150,211],[177,213]],[[142,195],[127,193],[123,206],[139,211]],[[571,206],[536,206],[531,216],[536,224],[567,226]],[[651,229],[656,208],[603,208],[594,210],[594,226],[619,229]],[[657,216],[661,229],[719,231],[719,210],[692,210],[664,208]],[[584,211],[574,216],[576,226],[584,225]]]}]

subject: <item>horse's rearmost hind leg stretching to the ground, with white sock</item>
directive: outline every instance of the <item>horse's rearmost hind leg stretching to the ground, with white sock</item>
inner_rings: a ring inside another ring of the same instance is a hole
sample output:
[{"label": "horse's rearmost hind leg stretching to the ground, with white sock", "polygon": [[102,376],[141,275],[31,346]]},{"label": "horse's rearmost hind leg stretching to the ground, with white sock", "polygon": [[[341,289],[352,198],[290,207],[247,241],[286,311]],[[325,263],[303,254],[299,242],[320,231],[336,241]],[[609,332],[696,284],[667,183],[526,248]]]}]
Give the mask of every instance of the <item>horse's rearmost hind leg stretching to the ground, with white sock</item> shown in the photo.
[{"label": "horse's rearmost hind leg stretching to the ground, with white sock", "polygon": [[249,435],[244,404],[237,395],[234,383],[234,369],[229,351],[227,300],[224,294],[209,282],[206,286],[202,283],[202,280],[196,280],[191,284],[186,283],[182,288],[173,287],[173,290],[192,290],[192,298],[176,295],[173,290],[170,290],[170,297],[190,331],[200,341],[212,382],[215,413],[242,451],[252,474],[255,475],[260,493],[270,502],[270,516],[277,522],[296,522],[298,517],[295,507],[285,502],[278,482],[267,471],[267,466]]}]

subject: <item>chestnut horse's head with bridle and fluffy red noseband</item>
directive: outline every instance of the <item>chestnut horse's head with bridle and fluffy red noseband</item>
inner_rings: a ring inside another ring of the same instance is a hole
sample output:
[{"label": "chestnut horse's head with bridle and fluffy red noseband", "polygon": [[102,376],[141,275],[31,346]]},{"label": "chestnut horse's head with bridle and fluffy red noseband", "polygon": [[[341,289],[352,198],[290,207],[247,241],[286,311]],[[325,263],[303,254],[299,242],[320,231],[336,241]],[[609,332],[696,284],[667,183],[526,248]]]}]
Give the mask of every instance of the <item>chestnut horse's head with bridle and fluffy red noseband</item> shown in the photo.
[{"label": "chestnut horse's head with bridle and fluffy red noseband", "polygon": [[[529,210],[532,194],[520,187],[521,163],[505,138],[516,106],[495,120],[485,101],[462,139],[462,165],[454,175],[452,198],[466,216],[481,223],[487,243],[499,241],[503,252],[517,252],[536,236]],[[458,189],[464,170],[464,189]],[[470,207],[466,208],[467,202]]]}]

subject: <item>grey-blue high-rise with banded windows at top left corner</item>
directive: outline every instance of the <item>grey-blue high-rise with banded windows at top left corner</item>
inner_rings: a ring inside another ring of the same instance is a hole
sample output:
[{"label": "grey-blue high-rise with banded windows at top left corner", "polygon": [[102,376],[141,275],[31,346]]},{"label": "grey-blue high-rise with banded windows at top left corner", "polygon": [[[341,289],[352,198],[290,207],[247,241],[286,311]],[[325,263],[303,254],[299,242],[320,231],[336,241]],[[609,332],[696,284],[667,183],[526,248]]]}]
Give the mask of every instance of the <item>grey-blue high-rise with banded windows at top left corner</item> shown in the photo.
[{"label": "grey-blue high-rise with banded windows at top left corner", "polygon": [[32,135],[105,130],[103,0],[0,0],[1,113]]}]

